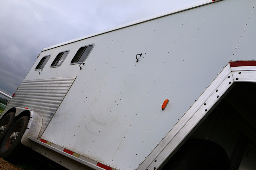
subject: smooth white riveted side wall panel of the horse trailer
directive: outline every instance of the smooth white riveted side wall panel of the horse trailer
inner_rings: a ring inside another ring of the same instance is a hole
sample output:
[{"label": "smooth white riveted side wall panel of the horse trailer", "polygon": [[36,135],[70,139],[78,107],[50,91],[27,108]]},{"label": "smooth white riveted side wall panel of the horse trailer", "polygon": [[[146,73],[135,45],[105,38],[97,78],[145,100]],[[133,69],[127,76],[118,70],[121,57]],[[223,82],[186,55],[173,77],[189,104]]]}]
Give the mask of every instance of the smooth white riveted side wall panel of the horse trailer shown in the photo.
[{"label": "smooth white riveted side wall panel of the horse trailer", "polygon": [[[230,60],[254,58],[255,4],[223,0],[43,51],[25,81],[77,78],[41,138],[116,169],[136,169]],[[92,43],[82,70],[70,65]],[[65,50],[65,62],[50,68]],[[35,67],[47,55],[39,74]]]}]

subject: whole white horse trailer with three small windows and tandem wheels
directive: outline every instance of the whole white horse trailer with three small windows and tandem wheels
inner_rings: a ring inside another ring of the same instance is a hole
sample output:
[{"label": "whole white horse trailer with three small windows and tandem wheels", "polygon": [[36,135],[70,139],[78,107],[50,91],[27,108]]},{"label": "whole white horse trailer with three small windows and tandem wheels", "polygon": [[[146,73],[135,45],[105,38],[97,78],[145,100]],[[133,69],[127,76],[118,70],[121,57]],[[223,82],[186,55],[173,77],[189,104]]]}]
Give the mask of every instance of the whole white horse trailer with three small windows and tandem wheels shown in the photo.
[{"label": "whole white horse trailer with three small windows and tandem wheels", "polygon": [[255,170],[256,0],[206,0],[43,49],[0,121],[70,170]]}]

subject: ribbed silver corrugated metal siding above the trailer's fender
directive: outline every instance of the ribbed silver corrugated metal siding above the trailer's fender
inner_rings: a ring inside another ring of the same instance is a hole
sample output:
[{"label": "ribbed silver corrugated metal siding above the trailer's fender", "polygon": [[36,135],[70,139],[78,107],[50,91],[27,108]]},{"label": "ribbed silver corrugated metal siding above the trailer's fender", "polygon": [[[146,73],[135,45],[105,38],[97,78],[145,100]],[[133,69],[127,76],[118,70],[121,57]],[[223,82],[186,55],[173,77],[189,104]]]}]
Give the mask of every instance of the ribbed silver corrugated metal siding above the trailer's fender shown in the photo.
[{"label": "ribbed silver corrugated metal siding above the trailer's fender", "polygon": [[75,78],[76,76],[23,81],[4,113],[12,107],[27,107],[40,114],[43,118],[39,134],[41,137]]}]

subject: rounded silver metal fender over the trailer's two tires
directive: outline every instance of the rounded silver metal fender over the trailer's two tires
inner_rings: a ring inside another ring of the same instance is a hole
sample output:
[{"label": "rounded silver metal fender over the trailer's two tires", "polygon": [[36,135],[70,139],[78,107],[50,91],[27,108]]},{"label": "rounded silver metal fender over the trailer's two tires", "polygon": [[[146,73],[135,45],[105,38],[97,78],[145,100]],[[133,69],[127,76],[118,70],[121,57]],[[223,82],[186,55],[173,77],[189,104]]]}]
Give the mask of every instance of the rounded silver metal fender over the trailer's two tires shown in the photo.
[{"label": "rounded silver metal fender over the trailer's two tires", "polygon": [[21,139],[21,143],[27,147],[32,147],[32,142],[28,139],[28,137],[31,136],[37,139],[42,127],[42,116],[31,109],[20,107],[15,107],[15,109],[15,118],[18,118],[23,115],[27,115],[29,117],[27,129]]}]

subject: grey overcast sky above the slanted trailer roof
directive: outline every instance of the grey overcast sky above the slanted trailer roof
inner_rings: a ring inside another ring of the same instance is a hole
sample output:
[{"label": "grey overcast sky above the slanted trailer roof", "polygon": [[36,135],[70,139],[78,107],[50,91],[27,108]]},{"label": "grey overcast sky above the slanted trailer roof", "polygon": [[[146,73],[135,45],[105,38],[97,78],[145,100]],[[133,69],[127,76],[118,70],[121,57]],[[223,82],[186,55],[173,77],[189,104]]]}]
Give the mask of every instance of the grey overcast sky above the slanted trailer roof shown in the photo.
[{"label": "grey overcast sky above the slanted trailer roof", "polygon": [[201,0],[1,0],[0,91],[12,96],[43,48]]}]

